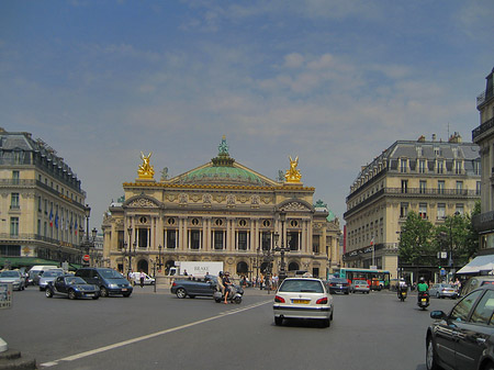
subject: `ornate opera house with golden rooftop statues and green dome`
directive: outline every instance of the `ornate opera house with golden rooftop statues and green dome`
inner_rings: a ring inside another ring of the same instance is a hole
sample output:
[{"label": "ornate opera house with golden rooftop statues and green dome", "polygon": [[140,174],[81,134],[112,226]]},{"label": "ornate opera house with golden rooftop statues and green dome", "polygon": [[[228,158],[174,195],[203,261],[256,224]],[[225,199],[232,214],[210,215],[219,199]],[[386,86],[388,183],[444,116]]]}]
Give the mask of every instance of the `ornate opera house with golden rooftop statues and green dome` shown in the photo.
[{"label": "ornate opera house with golden rooftop statues and green dome", "polygon": [[278,181],[232,158],[225,137],[210,162],[170,179],[165,169],[154,180],[150,154],[142,159],[138,178],[123,183],[124,198],[103,220],[109,266],[166,274],[177,261],[223,261],[250,278],[272,264],[278,273],[277,233],[278,247],[289,249],[288,270],[326,277],[338,265],[338,220],[313,204],[315,189],[301,182],[297,158]]}]

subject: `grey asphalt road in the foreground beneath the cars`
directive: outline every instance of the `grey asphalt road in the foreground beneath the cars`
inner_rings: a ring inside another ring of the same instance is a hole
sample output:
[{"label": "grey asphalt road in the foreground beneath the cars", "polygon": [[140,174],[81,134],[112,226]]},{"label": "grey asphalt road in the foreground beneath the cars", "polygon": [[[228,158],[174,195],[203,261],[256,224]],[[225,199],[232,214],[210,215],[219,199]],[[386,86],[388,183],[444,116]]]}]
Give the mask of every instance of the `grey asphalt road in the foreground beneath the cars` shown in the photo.
[{"label": "grey asphalt road in the foreground beneath the cars", "polygon": [[242,304],[179,300],[136,288],[131,298],[46,299],[30,287],[0,311],[0,337],[41,369],[425,370],[427,312],[409,295],[335,295],[329,328],[291,321],[274,326],[273,294],[247,289]]}]

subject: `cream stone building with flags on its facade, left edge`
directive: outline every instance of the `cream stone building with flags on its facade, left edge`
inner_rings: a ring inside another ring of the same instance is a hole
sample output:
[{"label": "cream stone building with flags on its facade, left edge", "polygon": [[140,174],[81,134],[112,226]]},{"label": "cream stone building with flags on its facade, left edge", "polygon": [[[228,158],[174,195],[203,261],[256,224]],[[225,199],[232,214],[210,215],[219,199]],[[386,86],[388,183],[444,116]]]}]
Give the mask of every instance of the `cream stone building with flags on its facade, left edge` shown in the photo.
[{"label": "cream stone building with flags on its facade, left edge", "polygon": [[57,153],[0,128],[0,267],[80,264],[86,192]]}]

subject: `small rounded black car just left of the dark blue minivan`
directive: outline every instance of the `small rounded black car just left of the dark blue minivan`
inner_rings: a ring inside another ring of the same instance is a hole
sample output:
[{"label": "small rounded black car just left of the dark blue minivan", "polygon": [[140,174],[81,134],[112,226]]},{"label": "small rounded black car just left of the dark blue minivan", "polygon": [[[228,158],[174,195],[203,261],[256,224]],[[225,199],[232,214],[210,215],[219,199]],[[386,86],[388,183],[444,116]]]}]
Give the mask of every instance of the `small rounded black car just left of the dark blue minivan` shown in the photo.
[{"label": "small rounded black car just left of the dark blue minivan", "polygon": [[46,285],[45,295],[52,298],[54,295],[66,295],[70,300],[79,298],[100,298],[100,288],[94,284],[88,284],[83,279],[74,274],[63,274],[49,281]]}]

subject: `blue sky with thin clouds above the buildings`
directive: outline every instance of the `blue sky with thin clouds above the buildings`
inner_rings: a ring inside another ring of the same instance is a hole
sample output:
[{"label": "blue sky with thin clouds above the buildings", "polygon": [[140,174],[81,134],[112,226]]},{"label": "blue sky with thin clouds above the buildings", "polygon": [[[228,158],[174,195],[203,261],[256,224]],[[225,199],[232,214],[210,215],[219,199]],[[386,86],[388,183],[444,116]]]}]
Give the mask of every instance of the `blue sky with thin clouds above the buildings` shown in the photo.
[{"label": "blue sky with thin clouds above the buildings", "polygon": [[77,173],[91,228],[133,182],[215,157],[302,182],[340,220],[397,139],[471,142],[494,67],[492,0],[0,2],[0,127]]}]

